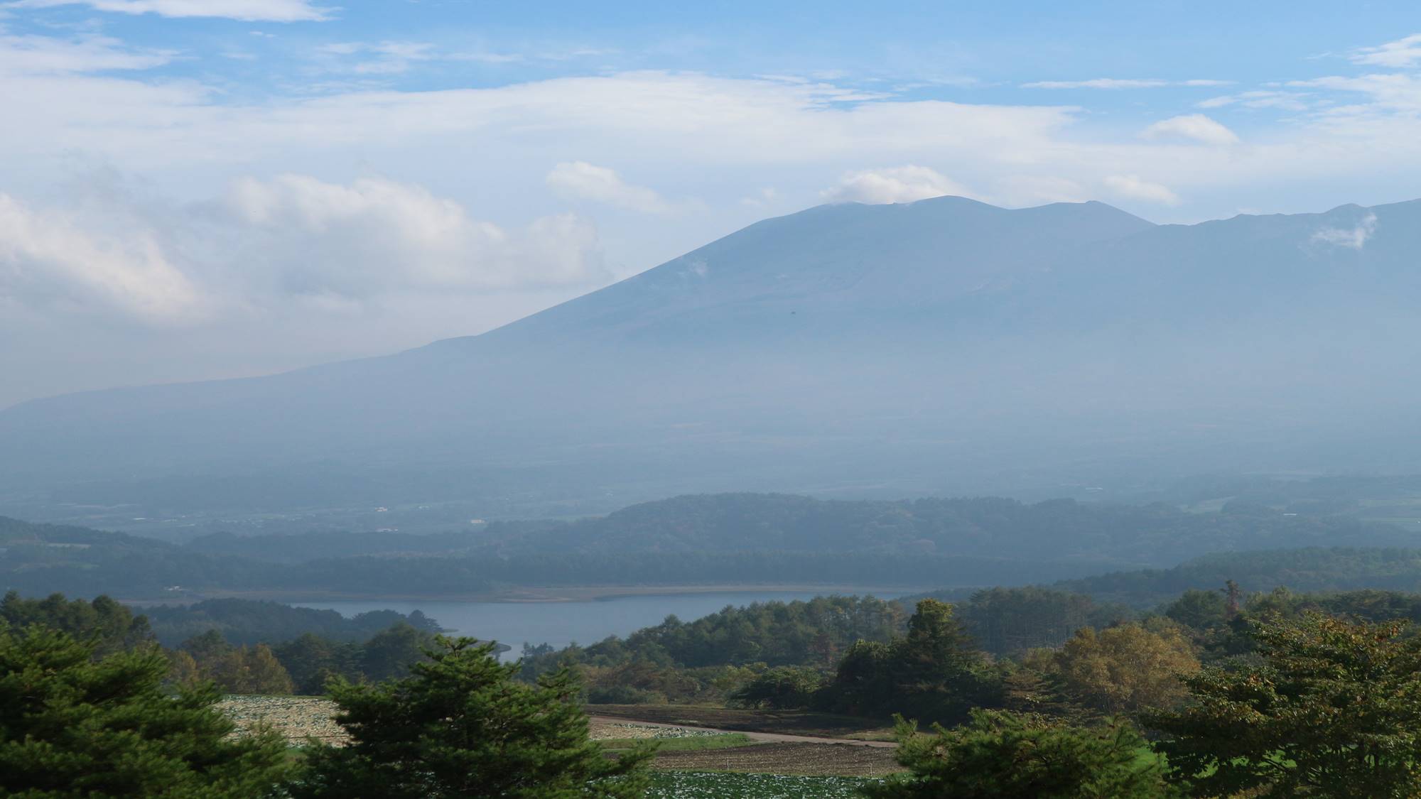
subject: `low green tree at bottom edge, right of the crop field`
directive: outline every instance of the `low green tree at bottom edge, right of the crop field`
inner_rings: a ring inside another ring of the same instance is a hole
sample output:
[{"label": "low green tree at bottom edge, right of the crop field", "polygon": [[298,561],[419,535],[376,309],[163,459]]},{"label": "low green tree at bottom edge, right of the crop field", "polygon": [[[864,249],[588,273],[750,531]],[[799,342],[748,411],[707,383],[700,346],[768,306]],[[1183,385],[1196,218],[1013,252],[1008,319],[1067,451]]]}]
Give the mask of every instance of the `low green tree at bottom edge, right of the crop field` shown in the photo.
[{"label": "low green tree at bottom edge, right of the crop field", "polygon": [[1175,796],[1144,738],[1123,722],[1069,726],[1037,715],[972,711],[952,731],[898,717],[908,775],[865,788],[874,799],[1164,799]]}]

